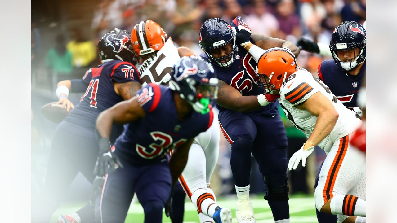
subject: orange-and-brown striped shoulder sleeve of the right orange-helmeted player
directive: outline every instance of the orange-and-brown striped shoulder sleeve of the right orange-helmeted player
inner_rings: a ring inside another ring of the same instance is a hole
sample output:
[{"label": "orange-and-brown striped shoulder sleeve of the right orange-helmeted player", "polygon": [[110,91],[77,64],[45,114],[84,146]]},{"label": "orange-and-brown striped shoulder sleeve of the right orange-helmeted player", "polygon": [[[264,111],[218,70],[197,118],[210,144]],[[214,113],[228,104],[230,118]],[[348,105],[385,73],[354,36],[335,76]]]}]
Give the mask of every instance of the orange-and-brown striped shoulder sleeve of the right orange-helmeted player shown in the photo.
[{"label": "orange-and-brown striped shoulder sleeve of the right orange-helmeted player", "polygon": [[298,80],[292,80],[289,81],[289,83],[287,82],[286,86],[283,88],[283,91],[285,100],[294,106],[303,103],[314,93],[318,92],[318,90],[315,90],[308,83],[304,81],[300,82]]}]

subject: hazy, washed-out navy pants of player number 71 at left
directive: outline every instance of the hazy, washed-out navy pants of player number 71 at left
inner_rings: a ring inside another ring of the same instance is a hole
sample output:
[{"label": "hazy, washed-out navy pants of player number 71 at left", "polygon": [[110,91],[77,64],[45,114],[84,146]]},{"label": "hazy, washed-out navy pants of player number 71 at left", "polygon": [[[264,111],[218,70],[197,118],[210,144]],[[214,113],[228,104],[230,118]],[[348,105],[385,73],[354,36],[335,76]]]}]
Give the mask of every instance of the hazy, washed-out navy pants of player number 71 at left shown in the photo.
[{"label": "hazy, washed-out navy pants of player number 71 at left", "polygon": [[[51,142],[42,200],[32,204],[32,222],[50,221],[79,172],[93,182],[97,155],[98,142],[93,131],[65,121],[58,125]],[[90,222],[94,218],[94,210],[85,206],[79,211],[79,216],[83,223]]]}]

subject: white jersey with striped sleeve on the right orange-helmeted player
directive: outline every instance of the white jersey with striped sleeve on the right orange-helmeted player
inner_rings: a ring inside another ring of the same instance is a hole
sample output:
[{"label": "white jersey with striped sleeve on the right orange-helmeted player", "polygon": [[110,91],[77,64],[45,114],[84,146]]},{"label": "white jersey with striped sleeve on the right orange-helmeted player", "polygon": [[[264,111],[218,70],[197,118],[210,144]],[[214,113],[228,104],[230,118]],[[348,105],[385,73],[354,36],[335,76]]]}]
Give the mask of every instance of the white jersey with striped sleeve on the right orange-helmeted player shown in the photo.
[{"label": "white jersey with striped sleeve on the right orange-helmeted player", "polygon": [[356,118],[355,112],[347,109],[342,102],[337,100],[327,85],[313,77],[310,72],[299,67],[298,71],[283,82],[280,88],[279,101],[288,119],[307,137],[312,134],[317,117],[307,110],[301,110],[295,106],[303,103],[316,92],[324,94],[339,113],[339,118],[330,135],[318,144],[328,154],[335,140],[353,133],[360,126],[361,120]]}]

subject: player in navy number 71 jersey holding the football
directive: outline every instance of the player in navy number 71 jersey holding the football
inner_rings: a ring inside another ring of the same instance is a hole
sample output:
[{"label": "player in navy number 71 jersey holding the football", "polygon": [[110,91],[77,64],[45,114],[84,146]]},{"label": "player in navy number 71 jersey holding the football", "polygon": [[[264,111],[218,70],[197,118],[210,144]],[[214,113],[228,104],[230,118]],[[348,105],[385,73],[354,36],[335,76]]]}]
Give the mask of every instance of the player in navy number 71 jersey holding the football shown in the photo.
[{"label": "player in navy number 71 jersey holding the football", "polygon": [[[99,148],[94,132],[96,117],[114,104],[132,98],[141,88],[139,73],[133,65],[135,53],[130,39],[131,33],[125,30],[115,29],[107,33],[98,43],[102,64],[89,69],[83,79],[58,84],[58,103],[67,110],[73,108],[67,100],[69,90],[85,94],[54,133],[42,201],[33,206],[32,222],[50,220],[77,173],[81,172],[90,182],[94,180],[93,169]],[[121,130],[122,126],[114,125],[112,142]],[[87,204],[76,213],[61,215],[57,222],[86,223],[93,219],[94,209]]]}]

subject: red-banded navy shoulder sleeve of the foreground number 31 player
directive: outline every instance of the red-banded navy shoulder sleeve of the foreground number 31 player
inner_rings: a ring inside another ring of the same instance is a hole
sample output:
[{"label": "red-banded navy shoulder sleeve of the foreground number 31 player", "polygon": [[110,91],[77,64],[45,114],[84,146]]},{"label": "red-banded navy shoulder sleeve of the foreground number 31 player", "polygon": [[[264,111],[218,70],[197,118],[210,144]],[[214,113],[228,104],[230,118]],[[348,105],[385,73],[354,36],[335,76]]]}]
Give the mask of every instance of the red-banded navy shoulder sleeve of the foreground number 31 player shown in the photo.
[{"label": "red-banded navy shoulder sleeve of the foreground number 31 player", "polygon": [[139,105],[143,110],[145,110],[145,112],[153,112],[160,103],[162,92],[160,86],[150,83],[139,89],[136,96]]}]

